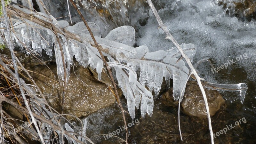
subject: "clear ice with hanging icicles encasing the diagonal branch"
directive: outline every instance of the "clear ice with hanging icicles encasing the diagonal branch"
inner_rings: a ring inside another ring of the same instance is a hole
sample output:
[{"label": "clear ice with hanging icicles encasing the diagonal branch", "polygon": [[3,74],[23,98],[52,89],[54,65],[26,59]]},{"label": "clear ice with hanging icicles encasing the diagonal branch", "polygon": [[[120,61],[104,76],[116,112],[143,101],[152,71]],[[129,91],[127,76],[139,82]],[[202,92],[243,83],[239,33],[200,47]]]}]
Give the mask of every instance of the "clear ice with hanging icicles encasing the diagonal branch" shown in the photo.
[{"label": "clear ice with hanging icicles encasing the diagonal branch", "polygon": [[[20,8],[21,9],[21,8]],[[24,12],[31,13],[24,10]],[[37,15],[39,18],[49,18]],[[79,22],[73,26],[68,26],[65,21],[57,21],[52,17],[52,23],[61,28],[66,33],[77,35],[82,42],[73,39],[67,39],[65,36],[58,34],[67,69],[67,81],[70,75],[70,66],[73,63],[73,56],[80,65],[92,69],[96,69],[98,79],[101,79],[103,61],[98,50],[91,45],[92,38],[89,35],[87,28],[83,22]],[[2,24],[3,25],[3,24]],[[173,79],[173,97],[174,100],[179,98],[182,100],[184,92],[182,88],[186,84],[189,69],[185,66],[185,62],[180,60],[180,53],[175,47],[167,51],[149,52],[147,46],[139,46],[134,48],[135,30],[131,26],[122,26],[113,29],[105,38],[101,38],[100,27],[88,22],[96,41],[103,49],[107,49],[109,53],[103,52],[103,55],[108,57],[109,65],[116,71],[116,79],[119,87],[122,89],[125,98],[127,99],[128,110],[132,119],[135,116],[135,108],[141,110],[141,116],[145,117],[146,113],[152,116],[154,99],[152,92],[154,90],[155,97],[159,94],[163,78],[166,81],[168,88],[170,87],[170,79]],[[13,39],[18,46],[23,47],[20,42],[29,46],[32,42],[32,48],[38,53],[44,49],[48,55],[52,56],[52,44],[55,44],[54,52],[57,63],[57,72],[60,81],[64,80],[64,67],[61,57],[60,46],[57,43],[56,36],[50,29],[43,28],[35,23],[26,20],[25,22],[16,22],[12,33]],[[194,44],[181,44],[181,48],[185,51],[191,61],[196,53]],[[140,68],[139,79],[137,78],[136,70]],[[138,80],[138,81],[137,81]],[[209,84],[209,83],[208,83]],[[148,87],[148,90],[145,88]],[[238,84],[233,88],[239,88],[241,91],[241,102],[243,102],[246,90],[241,88],[242,84]],[[239,87],[240,86],[240,87]],[[224,90],[224,85],[219,85]],[[229,87],[230,88],[230,87]],[[231,88],[231,89],[232,89]],[[220,90],[220,89],[218,89]],[[70,129],[65,125],[66,129]],[[66,135],[65,135],[66,136]],[[72,140],[70,139],[69,142]]]}]

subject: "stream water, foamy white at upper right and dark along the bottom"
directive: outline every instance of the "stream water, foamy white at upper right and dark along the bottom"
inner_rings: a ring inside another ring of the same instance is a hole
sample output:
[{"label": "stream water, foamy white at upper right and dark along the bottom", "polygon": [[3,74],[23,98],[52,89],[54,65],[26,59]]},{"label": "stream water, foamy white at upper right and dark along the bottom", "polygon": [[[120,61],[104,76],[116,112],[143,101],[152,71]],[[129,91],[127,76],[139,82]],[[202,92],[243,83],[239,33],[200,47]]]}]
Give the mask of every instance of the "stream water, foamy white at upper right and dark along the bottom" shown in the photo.
[{"label": "stream water, foamy white at upper right and dark along the bottom", "polygon": [[[168,50],[174,45],[165,40],[162,29],[149,10],[148,4],[140,0],[76,1],[86,20],[100,25],[102,36],[114,28],[131,25],[136,30],[137,46],[146,45],[150,52]],[[241,124],[216,136],[215,143],[256,143],[256,2],[254,0],[157,0],[153,2],[164,24],[171,34],[182,43],[197,47],[194,61],[208,57],[214,67],[231,62],[227,68],[217,72],[205,62],[199,66],[199,75],[206,81],[221,84],[245,83],[248,85],[244,103],[240,103],[239,92],[221,92],[225,104],[212,116],[213,133],[229,125]],[[65,4],[63,2],[63,4]],[[74,11],[74,10],[71,10]],[[67,13],[65,10],[63,13]],[[54,15],[53,15],[54,16]],[[55,15],[58,17],[60,15]],[[68,20],[68,17],[64,18]],[[74,22],[79,18],[74,14]],[[125,106],[125,100],[124,107]],[[181,114],[180,140],[178,108],[165,106],[161,98],[154,102],[152,117],[135,119],[140,124],[129,128],[129,143],[210,143],[208,121]],[[132,122],[129,115],[127,123]],[[243,118],[243,119],[242,119]],[[243,120],[243,121],[242,121]],[[87,117],[87,136],[107,134],[123,126],[120,110],[116,105],[101,109]],[[125,139],[125,133],[119,137]],[[93,136],[96,143],[116,143],[118,139]]]}]

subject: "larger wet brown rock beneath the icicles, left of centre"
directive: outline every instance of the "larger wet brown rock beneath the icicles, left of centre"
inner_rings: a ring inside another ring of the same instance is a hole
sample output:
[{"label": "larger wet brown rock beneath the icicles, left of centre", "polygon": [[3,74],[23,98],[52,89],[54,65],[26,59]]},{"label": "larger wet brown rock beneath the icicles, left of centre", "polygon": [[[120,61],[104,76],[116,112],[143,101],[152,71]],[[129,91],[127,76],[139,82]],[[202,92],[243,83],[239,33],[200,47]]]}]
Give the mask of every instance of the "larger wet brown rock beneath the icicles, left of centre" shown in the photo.
[{"label": "larger wet brown rock beneath the icicles, left of centre", "polygon": [[[56,72],[56,68],[51,68]],[[57,81],[51,80],[51,71],[45,67],[38,67],[34,70],[36,84],[41,88],[48,103],[61,111],[63,86]],[[78,67],[75,73],[70,74],[65,91],[64,113],[77,117],[87,116],[101,108],[110,106],[115,102],[115,96],[108,90],[108,86],[99,82],[92,76],[88,68]],[[45,75],[49,78],[41,76]],[[52,79],[57,79],[57,75],[52,73]],[[74,117],[68,117],[74,119]]]}]

